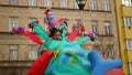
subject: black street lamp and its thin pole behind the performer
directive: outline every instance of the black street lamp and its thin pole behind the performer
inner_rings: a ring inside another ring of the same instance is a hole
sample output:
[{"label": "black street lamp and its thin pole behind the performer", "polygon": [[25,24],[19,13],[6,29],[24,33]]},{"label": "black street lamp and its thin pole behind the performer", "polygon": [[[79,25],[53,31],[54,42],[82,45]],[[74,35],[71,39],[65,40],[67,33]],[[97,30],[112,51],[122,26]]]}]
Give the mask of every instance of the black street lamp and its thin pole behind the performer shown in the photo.
[{"label": "black street lamp and its thin pole behind the performer", "polygon": [[[84,24],[84,15],[82,15],[82,11],[84,11],[84,8],[85,8],[85,4],[87,2],[87,0],[76,0],[77,4],[78,4],[78,8],[80,10],[80,18],[81,18],[81,23]],[[84,36],[84,34],[82,34]]]}]

